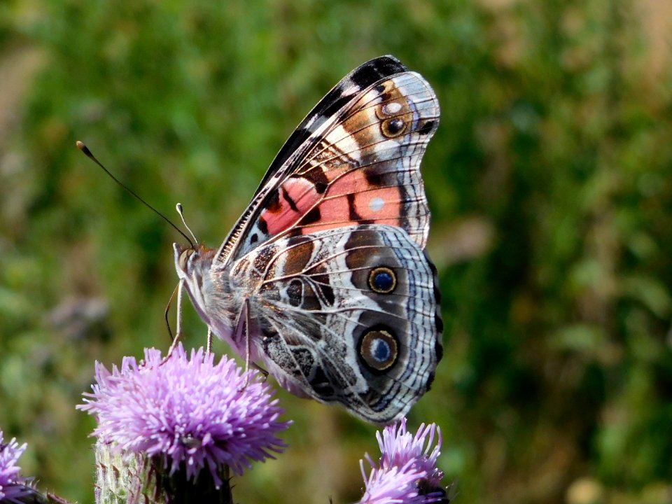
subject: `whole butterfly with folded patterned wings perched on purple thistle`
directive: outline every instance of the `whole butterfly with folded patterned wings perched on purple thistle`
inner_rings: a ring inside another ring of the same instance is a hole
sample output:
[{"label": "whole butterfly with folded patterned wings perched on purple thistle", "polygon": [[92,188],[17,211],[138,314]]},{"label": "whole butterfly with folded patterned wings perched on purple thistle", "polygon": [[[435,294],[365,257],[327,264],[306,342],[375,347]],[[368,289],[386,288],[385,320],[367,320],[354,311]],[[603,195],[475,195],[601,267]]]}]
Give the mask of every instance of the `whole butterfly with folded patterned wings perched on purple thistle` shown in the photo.
[{"label": "whole butterfly with folded patterned wings perched on purple thistle", "polygon": [[438,121],[434,91],[398,59],[358,66],[291,134],[218,249],[174,244],[179,293],[290,392],[400,419],[442,356],[419,172]]}]

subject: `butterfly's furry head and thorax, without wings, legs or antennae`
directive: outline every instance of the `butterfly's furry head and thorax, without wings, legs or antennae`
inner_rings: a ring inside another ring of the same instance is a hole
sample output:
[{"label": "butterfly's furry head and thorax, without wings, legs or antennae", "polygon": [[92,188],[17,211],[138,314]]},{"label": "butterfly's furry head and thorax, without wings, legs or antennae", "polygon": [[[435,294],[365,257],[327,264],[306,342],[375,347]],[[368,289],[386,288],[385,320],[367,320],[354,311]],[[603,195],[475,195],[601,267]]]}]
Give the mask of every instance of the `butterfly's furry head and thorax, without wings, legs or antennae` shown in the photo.
[{"label": "butterfly's furry head and thorax, without wings, legs or antennae", "polygon": [[244,293],[232,287],[230,268],[213,269],[214,248],[200,244],[173,244],[173,248],[175,269],[196,311],[216,335],[241,352],[234,333]]}]

